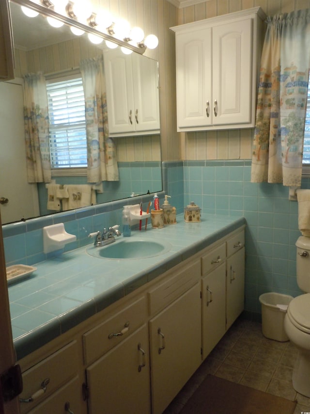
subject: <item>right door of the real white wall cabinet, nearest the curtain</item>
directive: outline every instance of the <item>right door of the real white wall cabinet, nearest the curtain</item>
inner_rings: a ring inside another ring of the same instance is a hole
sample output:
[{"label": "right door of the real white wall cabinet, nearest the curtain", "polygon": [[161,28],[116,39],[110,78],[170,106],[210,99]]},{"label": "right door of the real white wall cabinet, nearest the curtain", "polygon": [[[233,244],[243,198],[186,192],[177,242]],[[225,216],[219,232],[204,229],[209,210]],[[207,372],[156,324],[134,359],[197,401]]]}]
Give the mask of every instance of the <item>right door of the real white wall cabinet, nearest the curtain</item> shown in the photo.
[{"label": "right door of the real white wall cabinet, nearest the curtain", "polygon": [[212,29],[213,125],[251,122],[252,19]]}]

